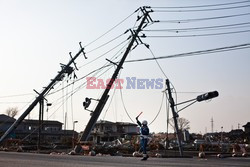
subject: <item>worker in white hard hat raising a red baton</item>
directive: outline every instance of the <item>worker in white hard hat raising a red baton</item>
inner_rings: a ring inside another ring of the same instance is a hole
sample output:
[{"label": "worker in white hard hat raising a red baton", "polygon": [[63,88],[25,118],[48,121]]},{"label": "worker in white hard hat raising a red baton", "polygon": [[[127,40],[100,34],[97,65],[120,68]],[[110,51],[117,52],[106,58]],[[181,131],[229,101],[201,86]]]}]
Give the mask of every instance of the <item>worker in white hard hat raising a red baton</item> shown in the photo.
[{"label": "worker in white hard hat raising a red baton", "polygon": [[137,124],[140,126],[140,145],[143,152],[142,161],[148,159],[147,155],[147,144],[148,144],[148,135],[149,135],[149,128],[148,122],[146,120],[142,121],[142,123],[138,120],[138,116],[136,117]]}]

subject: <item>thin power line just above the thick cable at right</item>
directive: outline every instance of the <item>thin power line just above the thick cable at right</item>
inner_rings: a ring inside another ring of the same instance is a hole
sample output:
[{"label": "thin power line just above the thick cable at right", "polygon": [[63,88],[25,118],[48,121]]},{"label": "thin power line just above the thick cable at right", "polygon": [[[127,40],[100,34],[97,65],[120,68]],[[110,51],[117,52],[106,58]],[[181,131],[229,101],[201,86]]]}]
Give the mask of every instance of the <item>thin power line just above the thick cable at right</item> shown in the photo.
[{"label": "thin power line just above the thick cable at right", "polygon": [[186,38],[186,37],[205,37],[205,36],[219,36],[219,35],[231,35],[231,34],[239,34],[239,33],[248,33],[250,30],[242,30],[242,31],[231,31],[231,32],[221,32],[221,33],[208,33],[208,34],[190,34],[190,35],[143,35],[141,37],[146,38]]}]

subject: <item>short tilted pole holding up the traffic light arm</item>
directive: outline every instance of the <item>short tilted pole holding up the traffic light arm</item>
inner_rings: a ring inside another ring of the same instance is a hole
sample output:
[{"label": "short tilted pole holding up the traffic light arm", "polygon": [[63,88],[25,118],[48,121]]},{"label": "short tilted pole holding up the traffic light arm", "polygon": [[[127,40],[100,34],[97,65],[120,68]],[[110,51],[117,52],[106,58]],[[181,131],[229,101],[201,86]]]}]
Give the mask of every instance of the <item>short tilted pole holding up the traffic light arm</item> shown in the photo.
[{"label": "short tilted pole holding up the traffic light arm", "polygon": [[174,102],[174,99],[172,97],[172,92],[171,92],[171,88],[170,88],[170,84],[169,84],[168,79],[166,79],[166,85],[167,85],[167,91],[168,91],[168,96],[169,96],[170,108],[172,109],[172,114],[173,114],[173,118],[174,118],[175,132],[176,132],[176,136],[177,136],[177,140],[178,140],[179,152],[180,152],[180,156],[182,157],[183,156],[183,149],[182,149],[182,145],[181,145],[181,135],[180,135],[178,122],[177,122],[177,118],[179,117],[179,115],[175,111],[175,102]]}]

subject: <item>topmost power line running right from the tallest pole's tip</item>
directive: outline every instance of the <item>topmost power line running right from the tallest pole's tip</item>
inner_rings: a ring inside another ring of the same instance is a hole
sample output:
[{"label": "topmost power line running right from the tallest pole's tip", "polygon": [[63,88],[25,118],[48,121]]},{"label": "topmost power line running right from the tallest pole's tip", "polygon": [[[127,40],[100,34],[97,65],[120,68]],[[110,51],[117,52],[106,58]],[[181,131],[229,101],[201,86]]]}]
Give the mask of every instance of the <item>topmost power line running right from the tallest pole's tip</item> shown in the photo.
[{"label": "topmost power line running right from the tallest pole's tip", "polygon": [[221,4],[209,4],[209,5],[196,5],[196,6],[171,6],[171,7],[151,7],[155,9],[178,9],[178,8],[203,8],[203,7],[213,7],[213,6],[226,6],[226,5],[234,5],[241,3],[249,3],[250,1],[240,1],[240,2],[231,2],[231,3],[221,3]]}]

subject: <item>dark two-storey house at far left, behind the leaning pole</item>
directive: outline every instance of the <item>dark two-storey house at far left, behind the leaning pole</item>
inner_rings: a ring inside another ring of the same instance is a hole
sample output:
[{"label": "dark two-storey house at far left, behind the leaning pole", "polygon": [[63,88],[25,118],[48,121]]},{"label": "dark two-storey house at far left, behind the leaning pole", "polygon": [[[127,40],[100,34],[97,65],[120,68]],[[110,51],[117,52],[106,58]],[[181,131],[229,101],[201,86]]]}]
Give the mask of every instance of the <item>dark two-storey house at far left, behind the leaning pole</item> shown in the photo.
[{"label": "dark two-storey house at far left, behind the leaning pole", "polygon": [[[0,115],[0,137],[16,121],[7,115]],[[59,121],[44,120],[41,125],[41,143],[62,143],[72,142],[72,137],[77,138],[78,133],[73,130],[62,130],[63,123]],[[12,132],[9,138],[21,139],[23,142],[37,143],[38,141],[39,120],[25,119]]]}]

